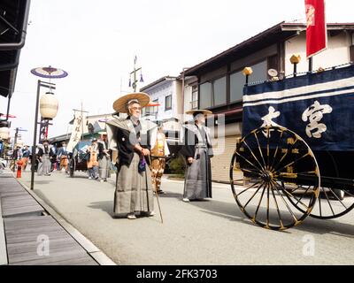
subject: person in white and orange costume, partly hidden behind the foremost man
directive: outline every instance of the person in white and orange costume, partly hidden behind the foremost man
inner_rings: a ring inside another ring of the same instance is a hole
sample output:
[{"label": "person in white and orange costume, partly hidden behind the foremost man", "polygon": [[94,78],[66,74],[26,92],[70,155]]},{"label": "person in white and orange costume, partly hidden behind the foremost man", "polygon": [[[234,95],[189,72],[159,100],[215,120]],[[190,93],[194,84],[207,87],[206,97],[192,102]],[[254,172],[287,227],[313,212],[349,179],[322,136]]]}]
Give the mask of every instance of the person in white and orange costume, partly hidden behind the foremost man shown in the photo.
[{"label": "person in white and orange costume, partly hidden behind the foremost man", "polygon": [[[155,147],[151,149],[151,177],[152,185],[156,187],[158,194],[164,194],[161,189],[161,178],[165,171],[165,158],[170,155],[170,150],[165,139],[164,126],[158,124],[158,134]],[[158,158],[161,157],[161,158]]]}]

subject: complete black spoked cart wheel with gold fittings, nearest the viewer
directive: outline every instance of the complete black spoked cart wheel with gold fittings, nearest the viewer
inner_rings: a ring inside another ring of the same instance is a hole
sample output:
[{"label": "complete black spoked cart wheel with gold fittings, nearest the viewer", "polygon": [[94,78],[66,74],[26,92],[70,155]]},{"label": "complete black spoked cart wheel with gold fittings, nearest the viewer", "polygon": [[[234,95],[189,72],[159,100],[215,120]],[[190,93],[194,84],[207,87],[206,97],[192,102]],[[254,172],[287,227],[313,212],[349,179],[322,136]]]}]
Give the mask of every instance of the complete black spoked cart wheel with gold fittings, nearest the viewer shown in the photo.
[{"label": "complete black spoked cart wheel with gold fittings, nearest the viewer", "polygon": [[285,230],[312,212],[319,195],[319,166],[299,135],[280,126],[260,127],[237,143],[230,181],[236,203],[253,223]]}]

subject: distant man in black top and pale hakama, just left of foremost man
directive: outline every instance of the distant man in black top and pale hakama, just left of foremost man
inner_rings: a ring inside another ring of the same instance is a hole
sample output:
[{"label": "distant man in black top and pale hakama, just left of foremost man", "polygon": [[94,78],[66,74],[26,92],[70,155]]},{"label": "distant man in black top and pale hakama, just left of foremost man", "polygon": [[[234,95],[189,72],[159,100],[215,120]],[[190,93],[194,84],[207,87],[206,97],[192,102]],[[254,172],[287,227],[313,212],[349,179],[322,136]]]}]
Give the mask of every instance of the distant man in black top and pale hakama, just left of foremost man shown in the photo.
[{"label": "distant man in black top and pale hakama, just left of foremost man", "polygon": [[107,133],[101,133],[98,141],[98,173],[101,182],[111,178],[111,154],[107,144]]}]

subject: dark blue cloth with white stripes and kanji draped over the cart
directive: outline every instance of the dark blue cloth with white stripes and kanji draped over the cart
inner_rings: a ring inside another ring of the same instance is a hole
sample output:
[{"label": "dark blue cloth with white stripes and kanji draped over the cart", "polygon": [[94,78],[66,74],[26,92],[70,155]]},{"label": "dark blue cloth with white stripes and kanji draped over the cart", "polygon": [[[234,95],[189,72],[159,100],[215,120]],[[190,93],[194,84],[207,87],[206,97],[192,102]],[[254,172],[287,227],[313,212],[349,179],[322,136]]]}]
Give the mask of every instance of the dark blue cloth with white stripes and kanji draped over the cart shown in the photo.
[{"label": "dark blue cloth with white stripes and kanji draped over the cart", "polygon": [[245,87],[242,136],[271,125],[312,150],[354,150],[354,65]]}]

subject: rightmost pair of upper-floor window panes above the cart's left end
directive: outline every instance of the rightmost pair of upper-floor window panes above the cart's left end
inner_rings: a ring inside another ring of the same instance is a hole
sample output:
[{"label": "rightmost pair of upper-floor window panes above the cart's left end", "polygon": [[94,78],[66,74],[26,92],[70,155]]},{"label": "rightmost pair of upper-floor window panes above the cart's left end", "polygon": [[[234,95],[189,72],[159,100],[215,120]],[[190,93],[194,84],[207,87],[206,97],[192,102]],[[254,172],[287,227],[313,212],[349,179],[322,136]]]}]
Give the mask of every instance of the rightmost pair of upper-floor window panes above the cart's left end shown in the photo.
[{"label": "rightmost pair of upper-floor window panes above the cart's left end", "polygon": [[[263,81],[267,80],[267,61],[262,61],[258,64],[250,66],[253,73],[250,75],[249,81]],[[230,102],[237,102],[242,100],[243,87],[246,83],[246,78],[242,71],[230,74]]]}]

